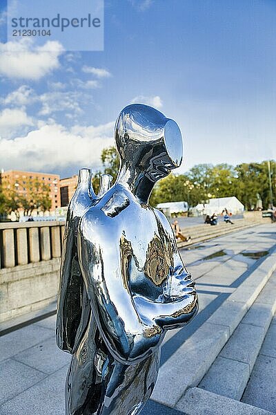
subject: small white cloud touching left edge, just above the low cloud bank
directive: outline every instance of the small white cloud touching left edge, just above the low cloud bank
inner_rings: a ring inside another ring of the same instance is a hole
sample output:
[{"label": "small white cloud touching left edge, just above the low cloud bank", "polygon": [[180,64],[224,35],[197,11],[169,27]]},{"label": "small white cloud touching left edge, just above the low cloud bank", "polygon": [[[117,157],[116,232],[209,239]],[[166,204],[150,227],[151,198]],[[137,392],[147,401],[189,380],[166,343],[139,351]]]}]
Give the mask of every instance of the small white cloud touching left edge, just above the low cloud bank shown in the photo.
[{"label": "small white cloud touching left edge, just above the low cloud bank", "polygon": [[[32,118],[28,117],[25,109],[3,109],[0,112],[0,136],[10,137],[22,127],[34,125]],[[8,152],[6,152],[7,157]]]}]

